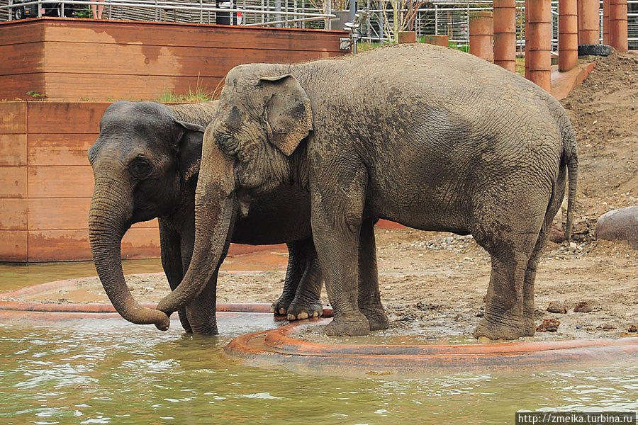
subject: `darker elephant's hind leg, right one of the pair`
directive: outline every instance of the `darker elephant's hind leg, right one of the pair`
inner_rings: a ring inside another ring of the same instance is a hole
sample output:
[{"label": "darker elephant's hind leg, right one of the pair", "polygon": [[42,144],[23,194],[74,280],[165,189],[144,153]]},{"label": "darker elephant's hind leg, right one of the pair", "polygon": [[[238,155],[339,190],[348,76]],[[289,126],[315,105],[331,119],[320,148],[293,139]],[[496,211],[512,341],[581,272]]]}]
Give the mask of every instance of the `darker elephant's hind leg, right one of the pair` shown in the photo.
[{"label": "darker elephant's hind leg, right one of the pair", "polygon": [[306,267],[301,277],[301,282],[299,282],[295,298],[288,308],[289,320],[319,317],[323,314],[323,305],[321,305],[320,300],[323,278],[312,239],[308,239],[306,250]]}]

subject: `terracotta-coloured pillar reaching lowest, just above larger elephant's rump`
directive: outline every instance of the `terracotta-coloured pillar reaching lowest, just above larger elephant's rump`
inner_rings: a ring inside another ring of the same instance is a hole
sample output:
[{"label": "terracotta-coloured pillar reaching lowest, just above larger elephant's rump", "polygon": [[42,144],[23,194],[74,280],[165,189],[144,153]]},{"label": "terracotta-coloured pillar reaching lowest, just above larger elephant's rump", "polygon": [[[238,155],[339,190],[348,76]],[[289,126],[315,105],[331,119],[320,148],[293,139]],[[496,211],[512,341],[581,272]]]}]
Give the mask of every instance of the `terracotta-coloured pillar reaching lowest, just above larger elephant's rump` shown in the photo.
[{"label": "terracotta-coloured pillar reaching lowest, just above larger elephant's rump", "polygon": [[549,91],[552,71],[552,4],[549,0],[527,0],[527,44],[530,81]]}]

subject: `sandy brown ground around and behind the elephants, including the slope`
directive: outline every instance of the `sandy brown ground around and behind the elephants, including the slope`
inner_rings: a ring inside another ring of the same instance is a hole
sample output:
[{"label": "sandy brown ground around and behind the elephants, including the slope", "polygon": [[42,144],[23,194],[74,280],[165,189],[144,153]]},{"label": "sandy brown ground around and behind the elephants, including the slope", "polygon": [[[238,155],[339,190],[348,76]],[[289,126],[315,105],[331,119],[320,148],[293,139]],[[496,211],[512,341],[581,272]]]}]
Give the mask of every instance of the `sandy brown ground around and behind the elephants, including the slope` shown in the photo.
[{"label": "sandy brown ground around and behind the elephants, including the slope", "polygon": [[[638,55],[612,52],[561,103],[576,130],[580,174],[575,234],[550,243],[539,265],[535,317],[557,319],[557,331],[533,339],[638,336],[638,251],[623,242],[597,241],[595,220],[608,210],[637,205]],[[379,286],[391,329],[378,332],[469,337],[483,314],[490,263],[471,237],[412,229],[378,229]],[[220,301],[272,302],[284,282],[286,254],[264,252],[229,259],[221,273]],[[263,271],[266,270],[266,271]],[[128,280],[138,300],[157,301],[168,289],[163,277]],[[45,294],[42,302],[106,301],[96,279],[71,292]],[[323,301],[328,302],[323,293]],[[573,312],[578,302],[591,312]],[[547,311],[559,302],[566,313]],[[317,333],[310,339],[329,339]],[[336,339],[335,341],[338,341]]]}]

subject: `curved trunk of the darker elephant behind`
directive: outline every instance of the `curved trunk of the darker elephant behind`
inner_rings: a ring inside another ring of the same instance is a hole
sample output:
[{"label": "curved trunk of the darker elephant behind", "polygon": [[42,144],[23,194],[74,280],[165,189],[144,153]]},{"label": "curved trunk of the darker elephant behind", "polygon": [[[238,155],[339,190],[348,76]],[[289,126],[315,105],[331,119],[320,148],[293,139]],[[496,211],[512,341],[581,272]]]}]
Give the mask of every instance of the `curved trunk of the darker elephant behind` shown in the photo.
[{"label": "curved trunk of the darker elephant behind", "polygon": [[124,182],[113,177],[96,179],[89,212],[89,240],[95,268],[108,299],[124,319],[168,329],[167,314],[140,306],[124,280],[120,246],[130,227],[127,214],[131,209]]}]

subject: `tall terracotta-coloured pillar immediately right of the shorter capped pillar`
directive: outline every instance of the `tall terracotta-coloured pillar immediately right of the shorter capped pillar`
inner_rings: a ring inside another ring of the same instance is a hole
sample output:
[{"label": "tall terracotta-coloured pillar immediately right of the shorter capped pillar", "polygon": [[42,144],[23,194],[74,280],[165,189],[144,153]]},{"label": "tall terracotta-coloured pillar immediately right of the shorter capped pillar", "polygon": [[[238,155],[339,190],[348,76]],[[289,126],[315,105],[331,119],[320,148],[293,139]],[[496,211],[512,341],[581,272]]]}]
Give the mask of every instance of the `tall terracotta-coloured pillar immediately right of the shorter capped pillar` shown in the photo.
[{"label": "tall terracotta-coloured pillar immediately right of the shorter capped pillar", "polygon": [[494,63],[516,72],[516,0],[494,0]]}]

